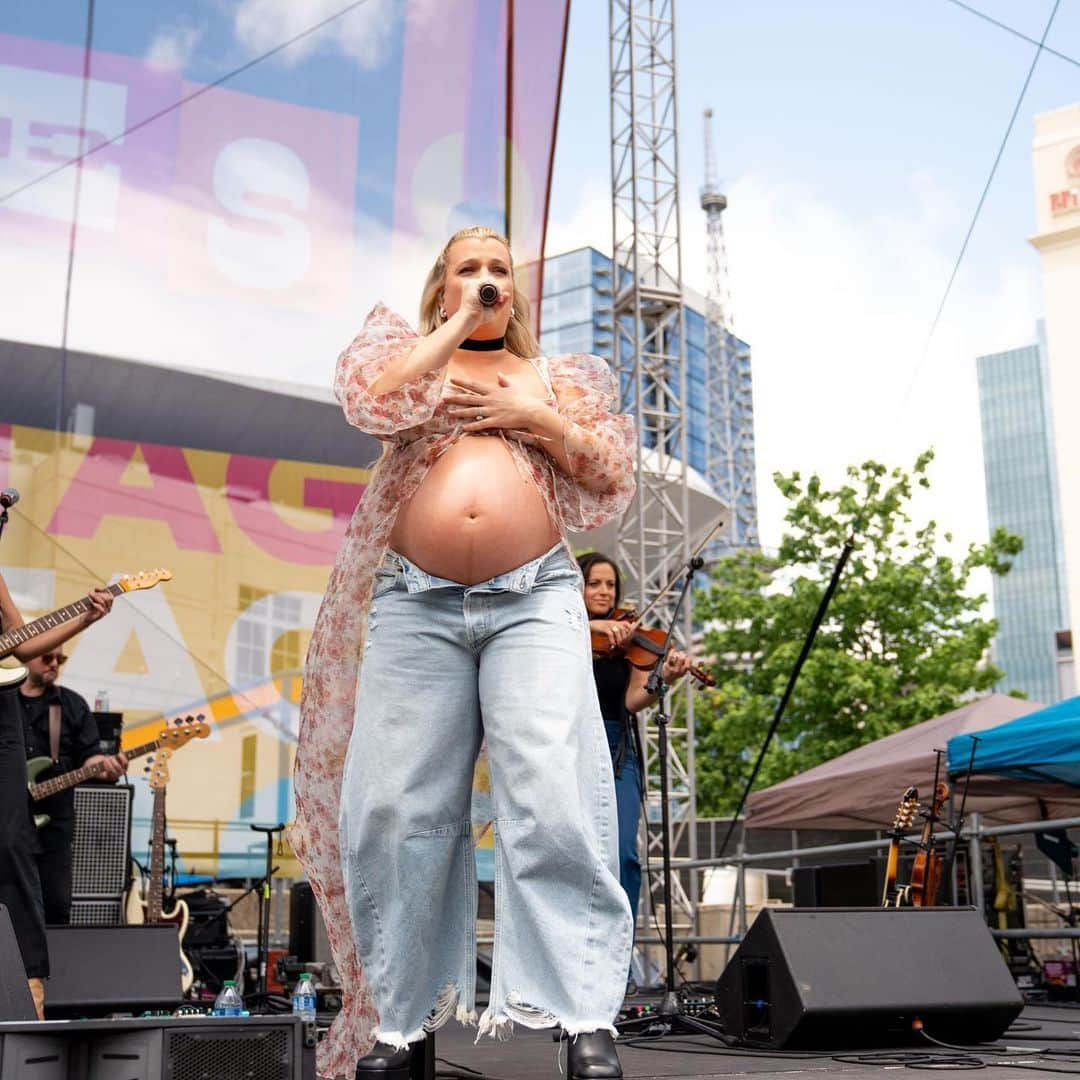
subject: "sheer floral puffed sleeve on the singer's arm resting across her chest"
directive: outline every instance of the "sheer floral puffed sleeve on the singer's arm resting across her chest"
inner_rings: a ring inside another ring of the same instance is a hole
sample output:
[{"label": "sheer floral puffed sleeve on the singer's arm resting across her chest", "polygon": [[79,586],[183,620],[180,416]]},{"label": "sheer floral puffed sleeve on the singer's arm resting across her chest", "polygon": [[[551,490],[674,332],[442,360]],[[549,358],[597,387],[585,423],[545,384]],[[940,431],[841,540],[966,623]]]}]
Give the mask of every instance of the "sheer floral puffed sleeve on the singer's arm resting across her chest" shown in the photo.
[{"label": "sheer floral puffed sleeve on the singer's arm resting across her chest", "polygon": [[634,421],[612,411],[619,386],[599,356],[552,356],[548,363],[571,471],[554,471],[555,498],[569,528],[594,529],[634,497]]}]

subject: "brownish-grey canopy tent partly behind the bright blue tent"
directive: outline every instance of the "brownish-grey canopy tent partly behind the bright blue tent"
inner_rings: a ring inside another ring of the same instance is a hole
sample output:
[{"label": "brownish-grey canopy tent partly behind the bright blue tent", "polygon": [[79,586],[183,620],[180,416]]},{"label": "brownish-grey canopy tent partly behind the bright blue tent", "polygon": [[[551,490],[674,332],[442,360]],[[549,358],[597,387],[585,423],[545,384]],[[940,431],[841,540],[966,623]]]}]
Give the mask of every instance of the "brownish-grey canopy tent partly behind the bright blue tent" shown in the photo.
[{"label": "brownish-grey canopy tent partly behind the bright blue tent", "polygon": [[[918,787],[924,799],[930,796],[934,750],[944,750],[954,735],[983,731],[1042,707],[1000,693],[969,702],[755,792],[746,801],[745,827],[888,828],[908,785]],[[1080,815],[1080,791],[1065,784],[975,775],[967,806],[968,813],[973,811],[994,823]]]}]

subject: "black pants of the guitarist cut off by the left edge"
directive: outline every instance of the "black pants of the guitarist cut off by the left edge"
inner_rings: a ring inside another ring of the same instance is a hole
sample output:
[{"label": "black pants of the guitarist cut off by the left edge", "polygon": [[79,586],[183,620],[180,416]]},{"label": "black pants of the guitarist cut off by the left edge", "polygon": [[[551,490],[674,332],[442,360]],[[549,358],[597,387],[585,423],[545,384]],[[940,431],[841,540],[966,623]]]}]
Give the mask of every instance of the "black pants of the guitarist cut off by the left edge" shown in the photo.
[{"label": "black pants of the guitarist cut off by the left edge", "polygon": [[35,859],[37,838],[26,789],[26,744],[17,693],[0,690],[0,904],[11,915],[27,976],[45,978],[45,912]]}]

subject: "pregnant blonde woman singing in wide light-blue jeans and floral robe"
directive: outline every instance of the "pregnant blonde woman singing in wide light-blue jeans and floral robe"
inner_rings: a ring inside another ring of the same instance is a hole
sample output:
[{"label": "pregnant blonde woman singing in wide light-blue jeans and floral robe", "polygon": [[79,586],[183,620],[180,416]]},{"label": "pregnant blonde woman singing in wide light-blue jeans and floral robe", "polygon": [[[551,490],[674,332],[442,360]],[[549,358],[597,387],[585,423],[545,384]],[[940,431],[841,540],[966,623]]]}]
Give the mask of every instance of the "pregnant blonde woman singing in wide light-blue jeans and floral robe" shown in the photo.
[{"label": "pregnant blonde woman singing in wide light-blue jeans and floral robe", "polygon": [[338,362],[346,417],[387,449],[303,680],[291,839],[346,990],[320,1075],[364,1054],[357,1078],[407,1077],[427,1031],[477,1021],[470,798],[483,737],[497,887],[480,1031],[559,1025],[571,1077],[622,1076],[612,1036],[633,922],[566,529],[625,509],[635,437],[611,411],[604,361],[538,356],[512,270],[490,229],[456,233],[428,276],[420,333],[379,305]]}]

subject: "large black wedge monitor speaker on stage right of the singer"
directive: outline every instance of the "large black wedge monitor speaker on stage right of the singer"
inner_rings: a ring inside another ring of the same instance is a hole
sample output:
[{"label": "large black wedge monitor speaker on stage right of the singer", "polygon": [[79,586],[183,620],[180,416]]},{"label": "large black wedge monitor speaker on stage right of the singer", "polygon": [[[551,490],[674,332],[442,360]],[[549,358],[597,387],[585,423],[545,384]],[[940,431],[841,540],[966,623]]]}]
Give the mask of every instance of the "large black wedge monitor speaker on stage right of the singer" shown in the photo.
[{"label": "large black wedge monitor speaker on stage right of the singer", "polygon": [[751,1045],[835,1049],[909,1041],[916,1020],[945,1042],[985,1042],[1024,1003],[974,908],[872,907],[766,908],[716,1004]]}]

